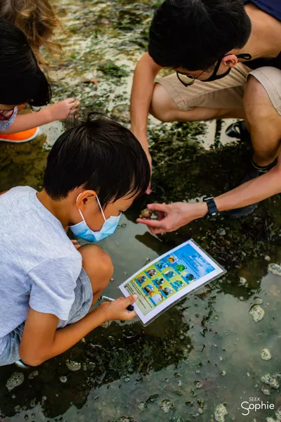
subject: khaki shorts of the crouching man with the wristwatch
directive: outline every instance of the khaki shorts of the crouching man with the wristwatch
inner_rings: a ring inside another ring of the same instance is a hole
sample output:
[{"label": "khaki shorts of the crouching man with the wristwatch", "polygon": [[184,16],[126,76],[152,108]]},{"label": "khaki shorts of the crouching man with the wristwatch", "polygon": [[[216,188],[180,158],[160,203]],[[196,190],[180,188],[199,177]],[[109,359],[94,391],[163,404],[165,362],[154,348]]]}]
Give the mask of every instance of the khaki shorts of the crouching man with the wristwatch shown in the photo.
[{"label": "khaki shorts of the crouching man with the wristwatch", "polygon": [[197,80],[190,87],[185,87],[176,73],[157,82],[168,91],[180,110],[193,107],[241,109],[248,75],[253,75],[263,85],[277,113],[281,115],[281,70],[277,68],[266,66],[251,70],[238,63],[228,76],[214,82]]}]

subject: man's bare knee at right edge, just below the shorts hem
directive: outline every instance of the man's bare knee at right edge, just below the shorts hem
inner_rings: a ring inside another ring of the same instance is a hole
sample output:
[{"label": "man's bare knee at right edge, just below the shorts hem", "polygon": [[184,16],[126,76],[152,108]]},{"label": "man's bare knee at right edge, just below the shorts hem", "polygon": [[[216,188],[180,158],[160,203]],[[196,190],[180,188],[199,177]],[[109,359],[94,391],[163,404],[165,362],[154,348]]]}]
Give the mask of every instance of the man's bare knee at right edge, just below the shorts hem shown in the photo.
[{"label": "man's bare knee at right edge, just below the shorts hem", "polygon": [[279,117],[266,89],[254,76],[249,76],[244,93],[244,110],[250,126]]}]

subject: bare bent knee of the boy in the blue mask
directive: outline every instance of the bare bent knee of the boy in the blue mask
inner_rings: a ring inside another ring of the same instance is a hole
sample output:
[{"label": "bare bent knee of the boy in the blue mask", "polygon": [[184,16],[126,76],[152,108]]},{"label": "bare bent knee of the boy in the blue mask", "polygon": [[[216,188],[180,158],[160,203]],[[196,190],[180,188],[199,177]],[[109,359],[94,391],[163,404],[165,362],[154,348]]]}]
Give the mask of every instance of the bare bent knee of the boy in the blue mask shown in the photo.
[{"label": "bare bent knee of the boy in the blue mask", "polygon": [[110,281],[114,267],[110,256],[97,245],[84,245],[79,248],[82,255],[82,265],[89,276],[89,279],[98,279],[104,281],[107,286]]}]

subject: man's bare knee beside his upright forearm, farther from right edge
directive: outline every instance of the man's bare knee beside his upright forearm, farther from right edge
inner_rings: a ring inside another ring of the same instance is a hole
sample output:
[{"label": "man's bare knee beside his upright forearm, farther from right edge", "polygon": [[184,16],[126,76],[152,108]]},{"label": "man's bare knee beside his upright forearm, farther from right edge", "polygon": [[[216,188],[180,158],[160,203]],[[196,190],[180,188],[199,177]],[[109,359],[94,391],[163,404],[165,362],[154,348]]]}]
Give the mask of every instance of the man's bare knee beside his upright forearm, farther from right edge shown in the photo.
[{"label": "man's bare knee beside his upright forearm, farther from right edge", "polygon": [[176,103],[161,84],[155,84],[150,105],[150,114],[161,122],[174,122]]}]

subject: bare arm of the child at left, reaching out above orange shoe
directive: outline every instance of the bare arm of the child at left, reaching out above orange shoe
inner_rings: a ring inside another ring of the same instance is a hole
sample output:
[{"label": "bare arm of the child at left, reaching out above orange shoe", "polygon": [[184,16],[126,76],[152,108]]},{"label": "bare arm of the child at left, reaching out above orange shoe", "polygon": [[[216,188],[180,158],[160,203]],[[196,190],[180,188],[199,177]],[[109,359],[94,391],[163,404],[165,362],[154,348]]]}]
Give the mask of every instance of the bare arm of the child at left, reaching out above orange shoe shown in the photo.
[{"label": "bare arm of the child at left, reaching out above orange shoe", "polygon": [[75,101],[74,98],[67,98],[66,100],[60,101],[60,103],[55,103],[52,106],[44,108],[44,110],[17,115],[11,126],[2,133],[14,134],[32,129],[32,127],[41,126],[41,124],[53,122],[54,120],[66,119],[69,115],[74,115],[77,112],[79,104],[79,101]]}]

